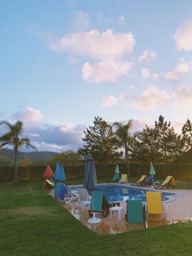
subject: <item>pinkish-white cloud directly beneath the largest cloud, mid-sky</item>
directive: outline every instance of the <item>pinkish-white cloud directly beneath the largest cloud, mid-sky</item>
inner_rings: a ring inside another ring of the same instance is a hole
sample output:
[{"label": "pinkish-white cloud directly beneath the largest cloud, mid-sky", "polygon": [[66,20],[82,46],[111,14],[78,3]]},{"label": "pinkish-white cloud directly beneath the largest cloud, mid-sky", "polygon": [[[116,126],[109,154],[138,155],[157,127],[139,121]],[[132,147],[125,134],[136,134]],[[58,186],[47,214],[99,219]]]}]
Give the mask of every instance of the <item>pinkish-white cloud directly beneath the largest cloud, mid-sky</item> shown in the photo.
[{"label": "pinkish-white cloud directly beneath the largest cloud, mid-sky", "polygon": [[131,65],[132,63],[111,58],[95,64],[85,63],[82,68],[82,76],[85,81],[89,82],[113,82],[123,75],[128,75]]}]

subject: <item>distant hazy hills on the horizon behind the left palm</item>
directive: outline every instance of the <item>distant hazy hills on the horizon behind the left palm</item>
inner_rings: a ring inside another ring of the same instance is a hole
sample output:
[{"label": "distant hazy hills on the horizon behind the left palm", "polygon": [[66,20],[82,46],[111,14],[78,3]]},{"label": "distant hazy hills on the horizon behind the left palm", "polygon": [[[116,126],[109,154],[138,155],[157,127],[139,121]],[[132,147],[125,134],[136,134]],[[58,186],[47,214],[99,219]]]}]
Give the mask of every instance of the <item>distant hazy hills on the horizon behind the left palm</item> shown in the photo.
[{"label": "distant hazy hills on the horizon behind the left palm", "polygon": [[[6,149],[2,156],[0,157],[0,165],[10,163],[10,159],[12,156],[13,150]],[[45,162],[49,160],[52,156],[57,155],[59,153],[53,151],[39,151],[38,156],[36,151],[32,152],[19,152],[19,160],[29,158],[34,162]]]}]

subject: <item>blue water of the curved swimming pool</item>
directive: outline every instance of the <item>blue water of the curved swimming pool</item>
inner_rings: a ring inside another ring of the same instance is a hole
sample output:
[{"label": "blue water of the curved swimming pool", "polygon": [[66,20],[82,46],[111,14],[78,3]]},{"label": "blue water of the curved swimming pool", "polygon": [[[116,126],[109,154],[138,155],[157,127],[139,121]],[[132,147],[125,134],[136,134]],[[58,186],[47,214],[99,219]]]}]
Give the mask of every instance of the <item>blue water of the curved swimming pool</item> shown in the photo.
[{"label": "blue water of the curved swimming pool", "polygon": [[[75,188],[82,188],[82,186],[77,186]],[[101,184],[95,187],[95,191],[103,191],[109,202],[125,202],[127,199],[141,199],[142,202],[146,202],[146,192],[157,190],[152,188],[138,188],[120,184]],[[160,192],[162,192],[162,200],[164,202],[173,201],[174,196],[181,195],[180,193],[165,191]],[[91,195],[90,191],[88,191],[88,193]]]}]

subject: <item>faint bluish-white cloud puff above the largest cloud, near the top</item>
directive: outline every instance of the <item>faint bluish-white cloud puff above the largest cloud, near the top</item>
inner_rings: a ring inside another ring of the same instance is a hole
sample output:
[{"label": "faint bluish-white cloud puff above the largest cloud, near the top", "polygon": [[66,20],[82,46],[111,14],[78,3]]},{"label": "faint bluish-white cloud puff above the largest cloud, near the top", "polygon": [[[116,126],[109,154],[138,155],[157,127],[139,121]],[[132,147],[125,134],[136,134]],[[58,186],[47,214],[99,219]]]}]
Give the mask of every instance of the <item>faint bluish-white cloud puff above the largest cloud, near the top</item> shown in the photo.
[{"label": "faint bluish-white cloud puff above the largest cloud, near the top", "polygon": [[84,11],[77,11],[72,21],[70,21],[70,29],[73,31],[84,31],[89,29],[91,25],[91,17]]}]

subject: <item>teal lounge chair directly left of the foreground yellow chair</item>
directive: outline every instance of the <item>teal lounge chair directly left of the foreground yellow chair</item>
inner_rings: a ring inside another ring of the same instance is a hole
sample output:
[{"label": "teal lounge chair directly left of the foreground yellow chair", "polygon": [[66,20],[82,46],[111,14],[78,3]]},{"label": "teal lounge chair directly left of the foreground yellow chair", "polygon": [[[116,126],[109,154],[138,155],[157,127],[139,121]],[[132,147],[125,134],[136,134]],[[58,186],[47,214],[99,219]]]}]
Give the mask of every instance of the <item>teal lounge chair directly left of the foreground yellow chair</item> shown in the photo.
[{"label": "teal lounge chair directly left of the foreground yellow chair", "polygon": [[142,223],[145,220],[145,206],[141,199],[127,200],[126,221],[129,223]]}]

